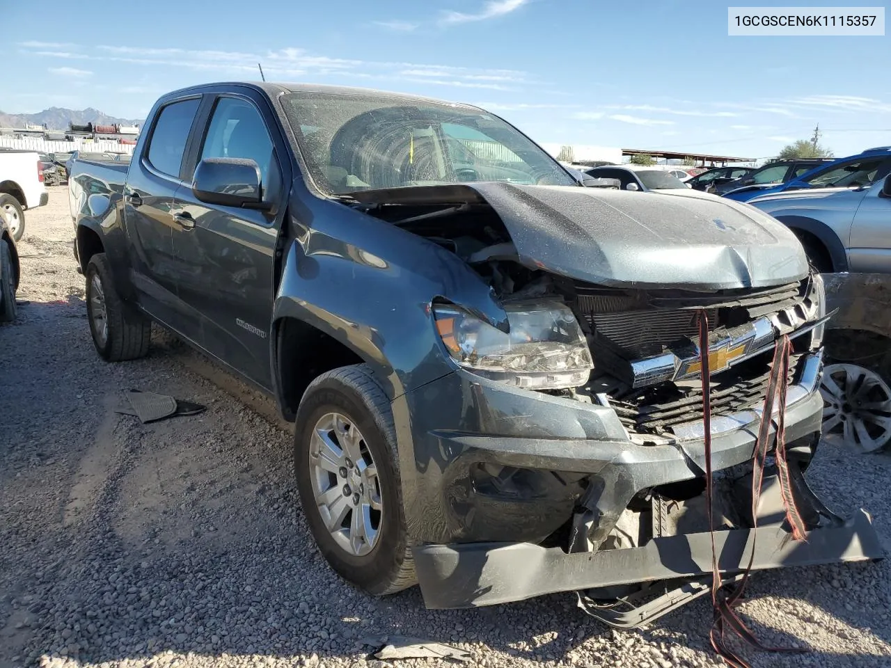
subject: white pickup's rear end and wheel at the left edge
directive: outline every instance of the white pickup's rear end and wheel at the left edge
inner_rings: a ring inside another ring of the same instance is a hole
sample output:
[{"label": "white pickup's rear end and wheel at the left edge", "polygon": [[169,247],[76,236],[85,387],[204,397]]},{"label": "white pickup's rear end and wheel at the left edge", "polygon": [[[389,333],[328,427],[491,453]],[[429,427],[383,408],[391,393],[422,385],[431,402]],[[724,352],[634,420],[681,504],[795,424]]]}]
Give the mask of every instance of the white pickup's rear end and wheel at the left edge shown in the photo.
[{"label": "white pickup's rear end and wheel at the left edge", "polygon": [[48,199],[37,152],[0,150],[0,216],[14,240],[25,233],[25,211],[44,206]]}]

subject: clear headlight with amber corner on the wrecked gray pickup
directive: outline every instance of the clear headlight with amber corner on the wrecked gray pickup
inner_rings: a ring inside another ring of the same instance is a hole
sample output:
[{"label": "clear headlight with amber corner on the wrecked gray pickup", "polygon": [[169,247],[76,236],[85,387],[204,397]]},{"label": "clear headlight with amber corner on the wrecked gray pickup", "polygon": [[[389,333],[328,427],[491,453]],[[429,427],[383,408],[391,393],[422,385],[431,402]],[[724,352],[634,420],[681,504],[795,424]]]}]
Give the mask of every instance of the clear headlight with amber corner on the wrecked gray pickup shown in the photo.
[{"label": "clear headlight with amber corner on the wrecked gray pickup", "polygon": [[452,359],[480,376],[515,387],[583,385],[593,369],[576,316],[560,302],[505,305],[510,331],[462,308],[434,305],[437,332]]}]

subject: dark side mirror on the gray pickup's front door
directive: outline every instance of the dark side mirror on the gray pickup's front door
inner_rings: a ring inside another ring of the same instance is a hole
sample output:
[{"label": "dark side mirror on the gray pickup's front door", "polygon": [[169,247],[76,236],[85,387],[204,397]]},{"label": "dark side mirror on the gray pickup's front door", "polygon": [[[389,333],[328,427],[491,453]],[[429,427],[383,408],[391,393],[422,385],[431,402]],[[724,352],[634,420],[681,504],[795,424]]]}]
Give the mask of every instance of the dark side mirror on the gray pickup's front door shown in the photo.
[{"label": "dark side mirror on the gray pickup's front door", "polygon": [[205,158],[195,168],[192,194],[222,207],[271,208],[262,200],[260,168],[251,159]]}]

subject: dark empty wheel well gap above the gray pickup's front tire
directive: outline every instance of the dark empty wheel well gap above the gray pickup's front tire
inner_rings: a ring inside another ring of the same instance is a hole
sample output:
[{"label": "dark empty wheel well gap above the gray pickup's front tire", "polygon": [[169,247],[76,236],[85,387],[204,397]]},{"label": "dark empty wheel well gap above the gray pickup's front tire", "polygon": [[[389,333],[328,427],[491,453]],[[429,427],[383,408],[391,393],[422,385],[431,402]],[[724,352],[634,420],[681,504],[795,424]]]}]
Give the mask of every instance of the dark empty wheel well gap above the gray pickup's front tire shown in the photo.
[{"label": "dark empty wheel well gap above the gray pickup's front tire", "polygon": [[364,360],[330,334],[296,318],[284,318],[276,328],[275,372],[282,415],[294,420],[309,384],[325,371]]}]

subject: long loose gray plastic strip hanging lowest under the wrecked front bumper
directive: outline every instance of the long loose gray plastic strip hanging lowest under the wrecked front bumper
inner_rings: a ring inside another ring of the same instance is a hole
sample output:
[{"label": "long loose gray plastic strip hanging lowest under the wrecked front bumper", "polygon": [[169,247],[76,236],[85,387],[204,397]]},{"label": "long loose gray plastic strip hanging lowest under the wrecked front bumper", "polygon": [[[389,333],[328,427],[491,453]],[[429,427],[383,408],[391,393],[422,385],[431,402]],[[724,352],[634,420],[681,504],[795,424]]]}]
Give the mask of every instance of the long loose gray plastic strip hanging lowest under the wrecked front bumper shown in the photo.
[{"label": "long loose gray plastic strip hanging lowest under the wrecked front bumper", "polygon": [[[843,525],[793,541],[782,526],[715,531],[723,574],[883,558],[871,517],[859,510]],[[633,582],[699,578],[711,573],[707,532],[654,538],[639,548],[567,554],[530,543],[455,543],[415,547],[414,565],[429,608],[491,606],[558,591]]]}]

